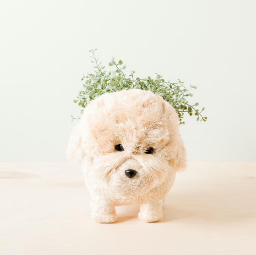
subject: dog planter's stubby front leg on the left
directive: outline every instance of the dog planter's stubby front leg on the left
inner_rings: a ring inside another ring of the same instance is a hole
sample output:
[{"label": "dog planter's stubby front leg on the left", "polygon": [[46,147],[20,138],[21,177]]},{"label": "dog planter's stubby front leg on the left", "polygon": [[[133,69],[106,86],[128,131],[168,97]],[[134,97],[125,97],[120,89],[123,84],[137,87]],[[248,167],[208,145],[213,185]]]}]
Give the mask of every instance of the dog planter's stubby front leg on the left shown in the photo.
[{"label": "dog planter's stubby front leg on the left", "polygon": [[91,200],[92,219],[100,223],[116,221],[117,213],[115,204],[101,196],[93,196]]}]

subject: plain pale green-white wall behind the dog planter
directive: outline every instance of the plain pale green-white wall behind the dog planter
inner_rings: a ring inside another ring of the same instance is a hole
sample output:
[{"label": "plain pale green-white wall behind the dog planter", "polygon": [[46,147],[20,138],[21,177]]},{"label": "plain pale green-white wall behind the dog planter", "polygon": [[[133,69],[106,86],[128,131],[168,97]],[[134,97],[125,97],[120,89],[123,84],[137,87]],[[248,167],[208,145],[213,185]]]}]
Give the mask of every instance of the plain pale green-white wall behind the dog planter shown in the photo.
[{"label": "plain pale green-white wall behind the dog planter", "polygon": [[67,160],[92,48],[198,86],[208,121],[185,119],[188,160],[256,160],[256,1],[16,0],[0,24],[0,161]]}]

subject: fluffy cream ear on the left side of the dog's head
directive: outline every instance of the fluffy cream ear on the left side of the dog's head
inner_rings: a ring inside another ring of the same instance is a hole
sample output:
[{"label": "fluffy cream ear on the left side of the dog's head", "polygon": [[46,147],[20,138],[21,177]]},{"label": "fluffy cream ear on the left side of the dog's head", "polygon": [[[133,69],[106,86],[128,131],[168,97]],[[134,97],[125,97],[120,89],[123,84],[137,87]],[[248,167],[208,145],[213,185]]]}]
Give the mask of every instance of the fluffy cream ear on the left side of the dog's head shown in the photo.
[{"label": "fluffy cream ear on the left side of the dog's head", "polygon": [[82,148],[82,133],[79,126],[73,128],[68,141],[67,157],[70,161],[76,165],[80,165],[85,156],[85,152]]}]

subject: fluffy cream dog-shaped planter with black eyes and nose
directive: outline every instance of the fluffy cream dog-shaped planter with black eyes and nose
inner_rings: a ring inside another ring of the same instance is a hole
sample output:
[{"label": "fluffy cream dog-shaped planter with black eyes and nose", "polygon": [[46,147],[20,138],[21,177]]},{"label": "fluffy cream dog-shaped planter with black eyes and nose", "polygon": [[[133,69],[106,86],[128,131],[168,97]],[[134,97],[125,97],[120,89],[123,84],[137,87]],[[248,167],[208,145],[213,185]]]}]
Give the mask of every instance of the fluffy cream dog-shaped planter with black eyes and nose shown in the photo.
[{"label": "fluffy cream dog-shaped planter with black eyes and nose", "polygon": [[117,219],[119,204],[139,204],[141,221],[160,220],[175,174],[186,167],[175,109],[141,89],[92,100],[73,129],[67,155],[82,166],[92,218],[101,223]]}]

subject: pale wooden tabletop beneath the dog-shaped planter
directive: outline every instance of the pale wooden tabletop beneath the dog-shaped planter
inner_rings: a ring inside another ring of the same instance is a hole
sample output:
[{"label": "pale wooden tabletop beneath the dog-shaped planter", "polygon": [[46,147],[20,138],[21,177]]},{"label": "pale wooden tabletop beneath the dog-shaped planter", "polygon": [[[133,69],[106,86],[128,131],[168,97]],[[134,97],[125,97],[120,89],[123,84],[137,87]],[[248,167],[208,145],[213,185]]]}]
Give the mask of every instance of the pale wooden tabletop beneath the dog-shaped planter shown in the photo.
[{"label": "pale wooden tabletop beneath the dog-shaped planter", "polygon": [[256,254],[256,162],[190,162],[157,223],[118,206],[90,219],[82,172],[70,162],[0,163],[1,255]]}]

